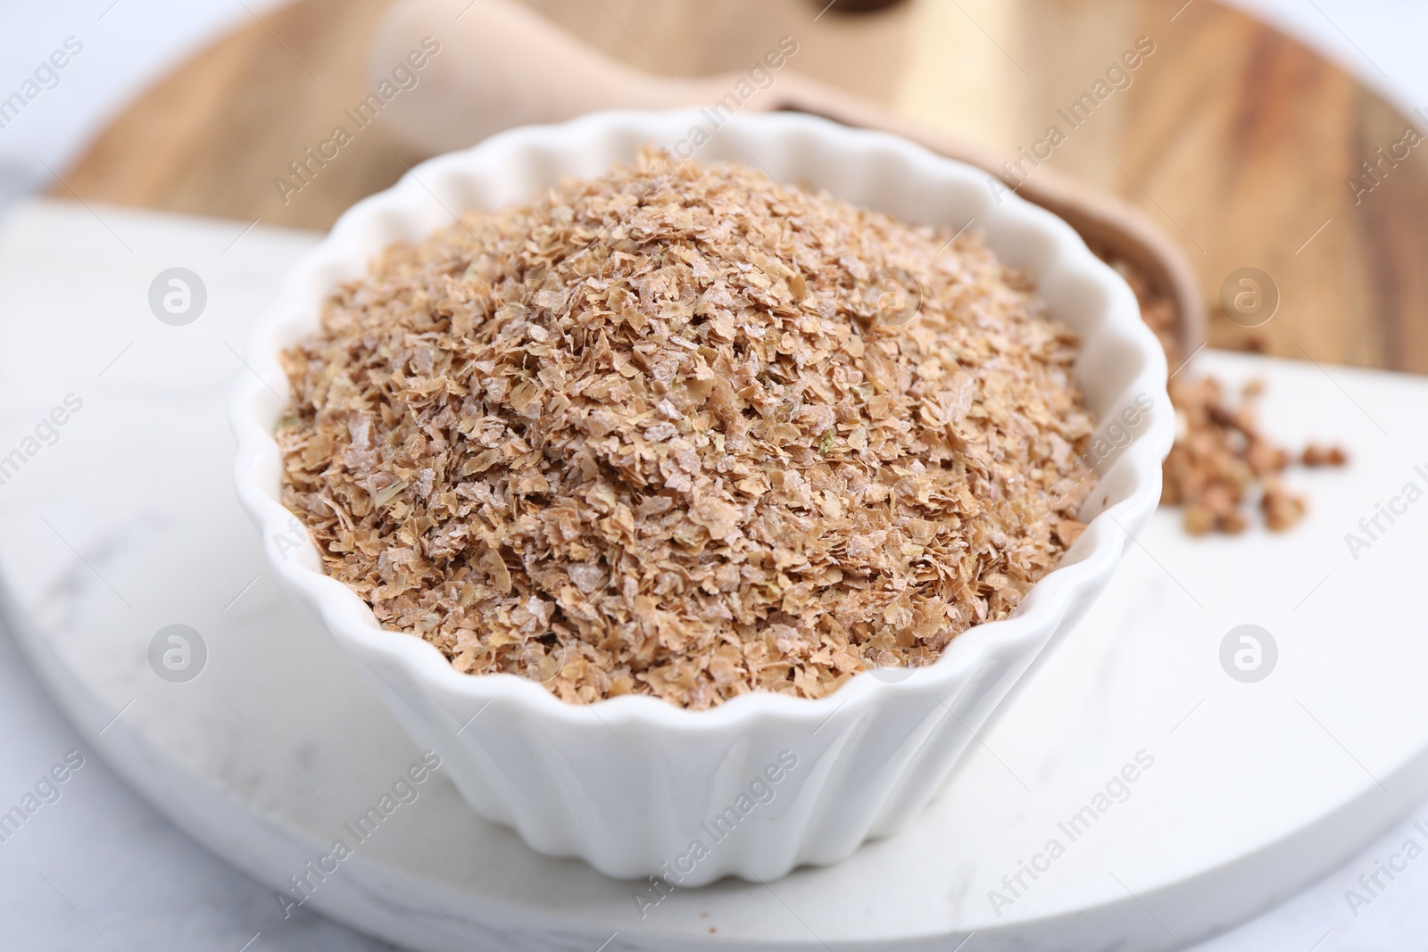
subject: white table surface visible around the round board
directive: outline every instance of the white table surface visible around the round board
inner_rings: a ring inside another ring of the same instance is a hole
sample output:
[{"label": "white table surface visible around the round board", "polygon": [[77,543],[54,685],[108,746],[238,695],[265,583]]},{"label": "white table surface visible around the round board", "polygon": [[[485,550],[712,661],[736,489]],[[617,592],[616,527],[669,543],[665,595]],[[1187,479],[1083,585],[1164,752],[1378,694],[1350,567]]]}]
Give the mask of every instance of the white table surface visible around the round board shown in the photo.
[{"label": "white table surface visible around the round board", "polygon": [[[1428,4],[1407,0],[1235,0],[1324,50],[1401,106],[1428,104]],[[0,130],[0,177],[37,183],[63,164],[123,101],[214,33],[274,0],[0,0],[0,90],[11,90],[66,36],[86,56],[60,86]],[[0,201],[6,187],[0,183]],[[4,304],[0,301],[0,318]],[[0,434],[0,444],[13,442]],[[3,490],[0,490],[3,491]],[[86,751],[9,637],[0,635],[0,802],[17,802],[67,751]],[[1197,952],[1399,949],[1428,931],[1428,859],[1349,909],[1409,838],[1428,805],[1314,888]],[[383,949],[318,916],[283,918],[271,892],[207,854],[139,802],[93,755],[61,798],[0,842],[0,948],[4,949]],[[1367,895],[1367,893],[1365,893]],[[594,951],[591,951],[594,952]]]}]

